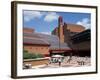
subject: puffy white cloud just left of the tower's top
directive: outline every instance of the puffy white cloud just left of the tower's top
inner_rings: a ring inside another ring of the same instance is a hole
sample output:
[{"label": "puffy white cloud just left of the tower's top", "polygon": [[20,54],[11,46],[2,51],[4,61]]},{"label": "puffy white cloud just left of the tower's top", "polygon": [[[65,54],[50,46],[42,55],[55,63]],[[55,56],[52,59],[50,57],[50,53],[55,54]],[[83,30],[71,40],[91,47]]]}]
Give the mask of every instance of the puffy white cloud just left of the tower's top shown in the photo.
[{"label": "puffy white cloud just left of the tower's top", "polygon": [[44,21],[52,22],[54,20],[58,20],[59,15],[56,12],[48,12],[44,17]]}]

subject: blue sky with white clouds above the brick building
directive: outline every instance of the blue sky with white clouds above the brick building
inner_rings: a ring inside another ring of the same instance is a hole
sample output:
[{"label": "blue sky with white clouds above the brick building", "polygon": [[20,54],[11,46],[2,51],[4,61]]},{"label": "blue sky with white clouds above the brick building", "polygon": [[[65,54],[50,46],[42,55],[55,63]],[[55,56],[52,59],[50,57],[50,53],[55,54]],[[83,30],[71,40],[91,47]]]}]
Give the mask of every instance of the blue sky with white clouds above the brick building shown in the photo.
[{"label": "blue sky with white clouds above the brick building", "polygon": [[58,17],[63,22],[83,25],[86,29],[91,26],[91,14],[71,12],[23,11],[23,26],[35,29],[36,32],[50,34],[58,26]]}]

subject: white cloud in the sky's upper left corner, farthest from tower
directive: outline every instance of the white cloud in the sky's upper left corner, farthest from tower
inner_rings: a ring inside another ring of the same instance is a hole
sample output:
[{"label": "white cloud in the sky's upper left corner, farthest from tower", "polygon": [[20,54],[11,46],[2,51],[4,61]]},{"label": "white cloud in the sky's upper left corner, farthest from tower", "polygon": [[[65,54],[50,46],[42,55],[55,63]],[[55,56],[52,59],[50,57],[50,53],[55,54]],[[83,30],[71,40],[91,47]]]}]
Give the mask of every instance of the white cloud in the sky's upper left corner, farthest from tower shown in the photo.
[{"label": "white cloud in the sky's upper left corner, farthest from tower", "polygon": [[30,21],[34,18],[41,18],[44,15],[44,13],[40,11],[24,11],[24,20],[25,21]]}]

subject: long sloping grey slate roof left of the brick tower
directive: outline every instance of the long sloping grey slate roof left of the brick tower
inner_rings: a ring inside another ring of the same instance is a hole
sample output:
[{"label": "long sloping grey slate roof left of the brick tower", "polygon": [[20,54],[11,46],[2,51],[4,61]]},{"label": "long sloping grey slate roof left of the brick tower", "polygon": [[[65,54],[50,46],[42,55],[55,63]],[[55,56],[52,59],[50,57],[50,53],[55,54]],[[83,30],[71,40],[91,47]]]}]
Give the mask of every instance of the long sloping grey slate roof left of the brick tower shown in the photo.
[{"label": "long sloping grey slate roof left of the brick tower", "polygon": [[33,44],[50,44],[51,49],[70,49],[67,43],[59,43],[59,38],[56,35],[47,35],[42,33],[24,33],[24,37],[32,37],[33,40],[28,40],[24,38],[25,42],[30,42]]}]

